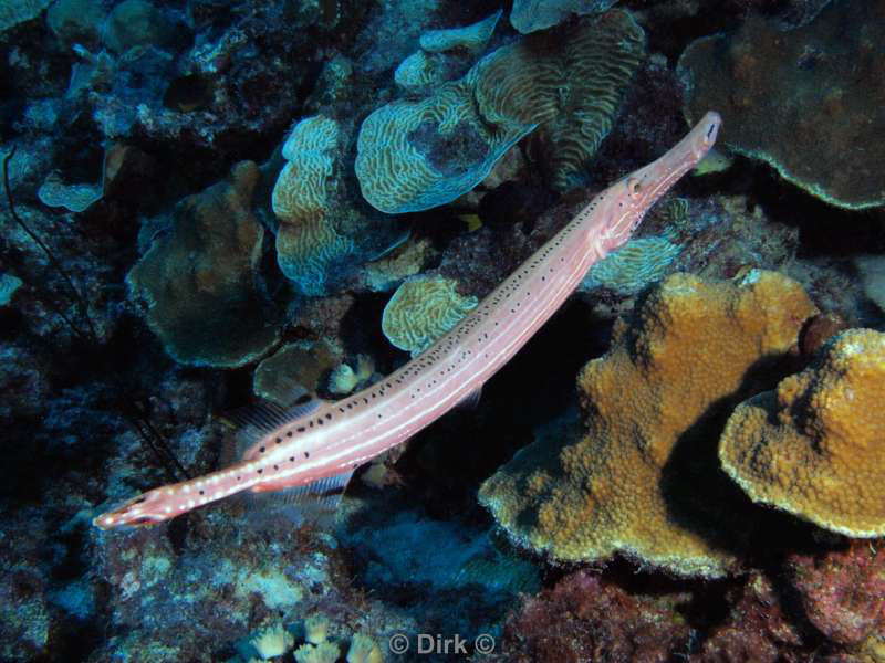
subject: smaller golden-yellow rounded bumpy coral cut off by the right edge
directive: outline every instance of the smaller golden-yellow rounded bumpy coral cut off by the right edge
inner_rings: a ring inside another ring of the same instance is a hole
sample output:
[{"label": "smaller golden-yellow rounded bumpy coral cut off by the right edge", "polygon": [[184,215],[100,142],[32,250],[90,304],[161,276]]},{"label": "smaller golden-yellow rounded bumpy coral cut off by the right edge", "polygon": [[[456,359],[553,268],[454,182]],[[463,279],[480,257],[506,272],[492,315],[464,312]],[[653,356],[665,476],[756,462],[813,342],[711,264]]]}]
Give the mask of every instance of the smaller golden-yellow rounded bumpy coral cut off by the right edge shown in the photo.
[{"label": "smaller golden-yellow rounded bumpy coral cut off by the right edge", "polygon": [[848,329],[813,366],[741,403],[725,471],[756,502],[854,537],[885,534],[885,334]]}]

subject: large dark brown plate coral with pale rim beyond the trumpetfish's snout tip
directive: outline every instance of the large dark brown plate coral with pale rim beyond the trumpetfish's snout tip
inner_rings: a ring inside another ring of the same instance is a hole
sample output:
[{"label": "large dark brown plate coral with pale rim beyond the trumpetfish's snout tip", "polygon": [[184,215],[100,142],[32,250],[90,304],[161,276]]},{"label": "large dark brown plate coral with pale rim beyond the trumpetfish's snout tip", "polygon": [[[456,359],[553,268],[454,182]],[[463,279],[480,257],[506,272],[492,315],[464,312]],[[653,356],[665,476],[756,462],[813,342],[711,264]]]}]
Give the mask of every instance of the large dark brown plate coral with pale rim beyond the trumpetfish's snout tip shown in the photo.
[{"label": "large dark brown plate coral with pale rim beyond the trumpetfish's snout tip", "polygon": [[845,207],[885,203],[885,1],[831,2],[783,32],[750,18],[686,49],[687,112],[717,108],[722,139],[785,179]]}]

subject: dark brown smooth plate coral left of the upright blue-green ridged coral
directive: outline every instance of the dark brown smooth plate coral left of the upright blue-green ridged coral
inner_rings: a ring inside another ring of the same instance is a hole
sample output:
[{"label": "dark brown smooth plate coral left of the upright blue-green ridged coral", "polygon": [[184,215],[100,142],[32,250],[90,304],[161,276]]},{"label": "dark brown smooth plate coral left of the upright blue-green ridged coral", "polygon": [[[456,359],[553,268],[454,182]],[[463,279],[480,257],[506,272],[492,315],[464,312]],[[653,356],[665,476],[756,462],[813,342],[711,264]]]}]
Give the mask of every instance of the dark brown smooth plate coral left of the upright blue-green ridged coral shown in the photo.
[{"label": "dark brown smooth plate coral left of the upright blue-green ridged coral", "polygon": [[258,167],[242,161],[229,181],[185,198],[170,231],[126,277],[148,325],[181,364],[242,366],[279,338],[258,273],[264,231],[250,210],[258,177]]}]

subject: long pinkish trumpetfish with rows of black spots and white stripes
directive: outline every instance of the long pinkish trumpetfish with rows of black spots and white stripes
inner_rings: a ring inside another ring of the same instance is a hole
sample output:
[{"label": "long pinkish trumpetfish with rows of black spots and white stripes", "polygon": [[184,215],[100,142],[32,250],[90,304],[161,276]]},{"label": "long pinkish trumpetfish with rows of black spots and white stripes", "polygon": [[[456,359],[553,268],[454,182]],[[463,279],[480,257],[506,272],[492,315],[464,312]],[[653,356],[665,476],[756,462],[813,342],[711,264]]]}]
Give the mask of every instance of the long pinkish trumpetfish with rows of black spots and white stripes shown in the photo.
[{"label": "long pinkish trumpetfish with rows of black spots and white stripes", "polygon": [[507,364],[709,151],[721,122],[707,113],[660,158],[598,193],[451,330],[385,379],[340,401],[268,413],[252,422],[256,442],[238,463],[148,491],[93,523],[149,525],[243,491],[340,494],[356,467],[442,417]]}]

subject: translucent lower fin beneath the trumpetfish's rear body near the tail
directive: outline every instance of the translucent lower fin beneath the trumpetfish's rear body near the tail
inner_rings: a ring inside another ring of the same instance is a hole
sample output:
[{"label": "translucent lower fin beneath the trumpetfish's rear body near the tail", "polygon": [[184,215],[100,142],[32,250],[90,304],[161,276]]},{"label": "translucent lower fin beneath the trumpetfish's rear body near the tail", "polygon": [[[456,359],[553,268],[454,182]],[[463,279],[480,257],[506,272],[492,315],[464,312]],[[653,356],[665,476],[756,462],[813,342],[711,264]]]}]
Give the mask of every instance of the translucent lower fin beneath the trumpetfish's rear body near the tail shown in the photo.
[{"label": "translucent lower fin beneath the trumpetfish's rear body near the tail", "polygon": [[348,469],[298,486],[287,486],[284,482],[259,484],[249,497],[260,508],[284,514],[294,525],[323,525],[334,517],[352,476],[353,470]]}]

